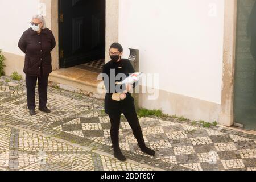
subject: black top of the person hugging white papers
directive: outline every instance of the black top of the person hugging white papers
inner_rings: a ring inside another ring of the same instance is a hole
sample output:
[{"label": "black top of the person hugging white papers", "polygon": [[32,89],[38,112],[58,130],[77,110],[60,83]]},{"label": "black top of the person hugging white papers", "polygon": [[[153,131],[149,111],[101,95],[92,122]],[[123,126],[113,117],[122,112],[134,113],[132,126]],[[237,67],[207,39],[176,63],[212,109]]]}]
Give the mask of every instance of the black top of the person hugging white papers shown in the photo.
[{"label": "black top of the person hugging white papers", "polygon": [[[113,74],[114,77],[112,77],[112,81],[110,77],[111,69],[114,69],[115,71],[115,74]],[[131,96],[130,93],[127,93],[127,97],[125,98],[125,100],[115,101],[115,100],[112,100],[112,94],[118,93],[121,90],[118,89],[118,87],[117,89],[111,90],[111,84],[113,88],[116,88],[115,82],[123,81],[122,78],[120,78],[120,80],[116,79],[116,76],[118,73],[123,73],[126,75],[126,77],[128,77],[129,73],[131,74],[134,72],[135,71],[134,71],[133,65],[131,65],[130,61],[127,59],[121,59],[119,62],[110,61],[104,65],[102,73],[105,73],[106,75],[108,75],[108,78],[109,78],[109,79],[103,79],[105,88],[107,90],[107,93],[105,96],[105,112],[107,114],[127,113],[135,110],[134,98]],[[120,88],[122,90],[126,90],[125,84],[123,84]]]}]

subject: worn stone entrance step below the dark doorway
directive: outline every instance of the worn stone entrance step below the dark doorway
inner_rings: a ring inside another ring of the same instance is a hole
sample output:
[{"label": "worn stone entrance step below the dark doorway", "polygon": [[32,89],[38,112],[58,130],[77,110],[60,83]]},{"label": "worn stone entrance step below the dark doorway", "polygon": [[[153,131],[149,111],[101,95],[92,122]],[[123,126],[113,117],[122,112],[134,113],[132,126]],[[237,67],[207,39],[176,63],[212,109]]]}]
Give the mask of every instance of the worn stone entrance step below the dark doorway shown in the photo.
[{"label": "worn stone entrance step below the dark doorway", "polygon": [[104,83],[97,79],[98,75],[99,73],[76,67],[61,68],[49,75],[49,86],[57,86],[71,92],[104,99]]}]

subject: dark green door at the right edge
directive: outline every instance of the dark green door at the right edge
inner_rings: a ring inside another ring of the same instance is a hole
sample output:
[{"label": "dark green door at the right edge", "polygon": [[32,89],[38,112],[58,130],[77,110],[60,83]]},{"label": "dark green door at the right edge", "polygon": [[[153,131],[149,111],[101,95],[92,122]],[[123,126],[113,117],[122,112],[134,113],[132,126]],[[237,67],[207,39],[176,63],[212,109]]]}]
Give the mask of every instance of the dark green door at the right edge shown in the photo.
[{"label": "dark green door at the right edge", "polygon": [[[256,1],[237,1],[234,123],[256,130]],[[254,44],[255,43],[255,44]]]}]

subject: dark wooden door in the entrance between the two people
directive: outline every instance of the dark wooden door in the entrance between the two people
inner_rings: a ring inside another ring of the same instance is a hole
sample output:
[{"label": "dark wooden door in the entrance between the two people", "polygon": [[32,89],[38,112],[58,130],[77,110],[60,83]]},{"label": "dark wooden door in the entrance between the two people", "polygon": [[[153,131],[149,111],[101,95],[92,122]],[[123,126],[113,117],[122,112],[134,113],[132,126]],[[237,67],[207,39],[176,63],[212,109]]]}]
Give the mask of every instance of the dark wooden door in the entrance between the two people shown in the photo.
[{"label": "dark wooden door in the entrance between the two people", "polygon": [[60,67],[105,57],[105,0],[59,0]]}]

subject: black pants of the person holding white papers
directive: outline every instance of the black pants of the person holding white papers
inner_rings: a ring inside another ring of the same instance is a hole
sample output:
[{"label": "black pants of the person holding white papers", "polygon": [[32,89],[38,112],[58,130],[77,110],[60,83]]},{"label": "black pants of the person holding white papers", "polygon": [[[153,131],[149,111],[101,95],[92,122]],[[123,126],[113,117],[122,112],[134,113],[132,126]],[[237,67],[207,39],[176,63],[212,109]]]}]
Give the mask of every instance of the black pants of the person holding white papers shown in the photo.
[{"label": "black pants of the person holding white papers", "polygon": [[[133,130],[134,137],[137,139],[139,146],[146,146],[141,130],[141,126],[139,125],[139,119],[137,117],[136,111],[132,111],[130,113],[123,113]],[[112,140],[113,148],[115,150],[119,150],[119,126],[120,126],[120,118],[121,114],[109,114],[111,129],[110,129],[110,137]]]}]

